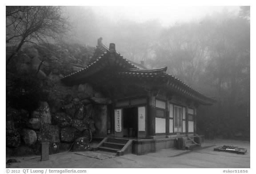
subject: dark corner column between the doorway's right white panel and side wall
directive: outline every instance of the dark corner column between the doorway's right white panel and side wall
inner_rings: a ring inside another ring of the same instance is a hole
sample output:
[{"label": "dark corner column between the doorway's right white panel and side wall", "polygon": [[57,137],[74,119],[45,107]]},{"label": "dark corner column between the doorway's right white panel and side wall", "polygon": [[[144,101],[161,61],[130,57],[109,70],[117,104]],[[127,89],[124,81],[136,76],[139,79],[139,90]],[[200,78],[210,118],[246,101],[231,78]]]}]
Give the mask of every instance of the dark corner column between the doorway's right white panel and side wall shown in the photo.
[{"label": "dark corner column between the doorway's right white panel and side wall", "polygon": [[148,97],[148,128],[147,136],[156,136],[156,97]]}]

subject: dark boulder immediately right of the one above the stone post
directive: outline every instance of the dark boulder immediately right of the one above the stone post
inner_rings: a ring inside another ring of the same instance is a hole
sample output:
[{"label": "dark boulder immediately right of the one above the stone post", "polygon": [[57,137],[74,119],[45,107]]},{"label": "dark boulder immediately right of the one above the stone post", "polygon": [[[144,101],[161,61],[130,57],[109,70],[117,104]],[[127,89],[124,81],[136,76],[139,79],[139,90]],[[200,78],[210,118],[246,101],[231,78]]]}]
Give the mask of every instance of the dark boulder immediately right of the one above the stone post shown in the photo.
[{"label": "dark boulder immediately right of the one above the stone post", "polygon": [[60,130],[60,140],[64,142],[73,142],[80,135],[76,128],[62,128]]}]

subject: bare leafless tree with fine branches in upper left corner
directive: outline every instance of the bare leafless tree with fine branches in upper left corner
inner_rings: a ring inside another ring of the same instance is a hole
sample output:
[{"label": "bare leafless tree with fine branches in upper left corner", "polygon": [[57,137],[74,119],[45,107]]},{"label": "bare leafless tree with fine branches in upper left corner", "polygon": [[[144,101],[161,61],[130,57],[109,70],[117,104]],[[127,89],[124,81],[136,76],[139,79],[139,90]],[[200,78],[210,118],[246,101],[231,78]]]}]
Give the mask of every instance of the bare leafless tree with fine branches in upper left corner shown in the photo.
[{"label": "bare leafless tree with fine branches in upper left corner", "polygon": [[6,65],[24,43],[60,39],[68,27],[59,6],[6,6],[6,44],[17,45]]}]

